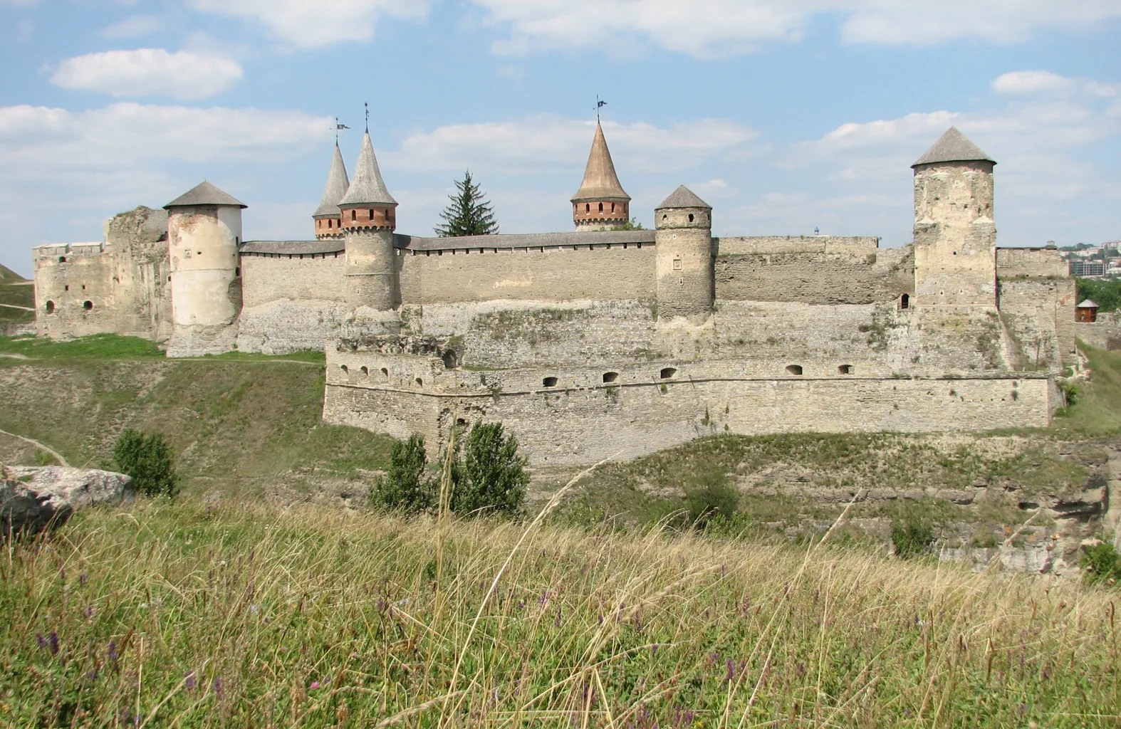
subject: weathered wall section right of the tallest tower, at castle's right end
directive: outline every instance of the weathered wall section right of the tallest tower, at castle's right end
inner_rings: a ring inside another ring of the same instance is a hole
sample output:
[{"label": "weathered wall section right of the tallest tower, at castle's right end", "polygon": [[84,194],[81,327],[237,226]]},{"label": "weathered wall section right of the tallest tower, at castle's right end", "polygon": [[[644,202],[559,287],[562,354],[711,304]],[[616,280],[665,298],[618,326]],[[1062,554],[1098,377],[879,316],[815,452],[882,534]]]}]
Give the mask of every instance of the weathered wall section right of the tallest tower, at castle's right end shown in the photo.
[{"label": "weathered wall section right of the tallest tower, at castle's right end", "polygon": [[[1016,270],[1030,269],[1018,265]],[[1057,374],[1074,361],[1075,282],[1048,275],[999,281],[1000,320],[1008,335],[1007,359],[1020,372]]]}]

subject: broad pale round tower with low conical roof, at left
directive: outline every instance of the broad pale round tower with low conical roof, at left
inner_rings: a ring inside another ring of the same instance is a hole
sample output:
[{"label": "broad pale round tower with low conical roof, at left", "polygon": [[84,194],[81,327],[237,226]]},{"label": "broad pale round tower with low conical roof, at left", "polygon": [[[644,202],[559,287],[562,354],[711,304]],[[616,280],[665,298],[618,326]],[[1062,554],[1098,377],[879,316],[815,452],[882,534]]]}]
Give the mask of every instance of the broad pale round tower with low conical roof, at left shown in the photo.
[{"label": "broad pale round tower with low conical roof, at left", "polygon": [[241,310],[238,247],[245,205],[202,183],[164,207],[172,272],[168,355],[226,352]]}]

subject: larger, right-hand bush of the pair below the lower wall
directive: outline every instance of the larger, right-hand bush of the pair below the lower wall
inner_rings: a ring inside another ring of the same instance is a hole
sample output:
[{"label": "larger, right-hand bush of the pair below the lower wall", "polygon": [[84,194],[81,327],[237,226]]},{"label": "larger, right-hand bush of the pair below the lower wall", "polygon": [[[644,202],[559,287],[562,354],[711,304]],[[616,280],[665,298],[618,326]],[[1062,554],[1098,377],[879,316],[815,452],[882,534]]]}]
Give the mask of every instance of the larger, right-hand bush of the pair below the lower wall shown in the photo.
[{"label": "larger, right-hand bush of the pair below the lower wall", "polygon": [[452,511],[517,513],[529,485],[526,459],[518,457],[518,439],[507,436],[502,423],[475,423],[464,450],[463,478],[452,492]]}]

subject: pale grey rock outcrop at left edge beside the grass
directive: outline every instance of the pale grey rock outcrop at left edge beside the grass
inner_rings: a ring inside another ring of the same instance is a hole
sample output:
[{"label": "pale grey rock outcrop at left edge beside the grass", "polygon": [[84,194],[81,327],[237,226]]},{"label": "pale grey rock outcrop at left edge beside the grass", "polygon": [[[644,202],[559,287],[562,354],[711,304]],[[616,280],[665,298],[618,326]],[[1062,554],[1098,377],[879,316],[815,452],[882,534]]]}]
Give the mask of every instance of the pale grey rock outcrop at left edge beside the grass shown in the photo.
[{"label": "pale grey rock outcrop at left edge beside the grass", "polygon": [[124,474],[62,466],[2,467],[0,529],[36,534],[63,524],[80,508],[132,501],[132,478]]}]

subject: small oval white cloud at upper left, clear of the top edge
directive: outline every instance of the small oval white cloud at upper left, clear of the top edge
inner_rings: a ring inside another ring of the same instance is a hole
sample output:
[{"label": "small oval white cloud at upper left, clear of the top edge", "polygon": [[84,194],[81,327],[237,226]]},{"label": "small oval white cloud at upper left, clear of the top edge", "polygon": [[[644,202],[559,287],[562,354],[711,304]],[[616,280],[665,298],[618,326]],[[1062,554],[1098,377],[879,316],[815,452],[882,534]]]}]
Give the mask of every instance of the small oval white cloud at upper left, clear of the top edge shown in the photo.
[{"label": "small oval white cloud at upper left, clear of the top edge", "polygon": [[138,48],[67,58],[58,65],[50,83],[113,96],[204,99],[225,91],[241,75],[241,65],[221,54]]}]

